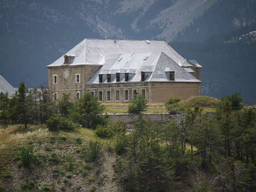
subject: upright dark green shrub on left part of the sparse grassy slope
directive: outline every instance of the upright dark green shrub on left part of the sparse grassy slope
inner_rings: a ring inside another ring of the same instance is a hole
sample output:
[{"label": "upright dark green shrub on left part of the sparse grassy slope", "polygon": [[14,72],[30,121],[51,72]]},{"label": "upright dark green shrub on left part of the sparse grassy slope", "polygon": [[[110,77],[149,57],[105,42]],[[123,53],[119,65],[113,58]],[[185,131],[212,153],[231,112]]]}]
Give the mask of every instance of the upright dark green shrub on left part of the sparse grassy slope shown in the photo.
[{"label": "upright dark green shrub on left part of the sparse grassy slope", "polygon": [[19,149],[19,156],[21,157],[21,163],[23,166],[25,166],[27,168],[29,166],[31,166],[31,164],[35,160],[35,155],[33,153],[33,146],[32,145],[28,145],[28,146],[22,145]]}]

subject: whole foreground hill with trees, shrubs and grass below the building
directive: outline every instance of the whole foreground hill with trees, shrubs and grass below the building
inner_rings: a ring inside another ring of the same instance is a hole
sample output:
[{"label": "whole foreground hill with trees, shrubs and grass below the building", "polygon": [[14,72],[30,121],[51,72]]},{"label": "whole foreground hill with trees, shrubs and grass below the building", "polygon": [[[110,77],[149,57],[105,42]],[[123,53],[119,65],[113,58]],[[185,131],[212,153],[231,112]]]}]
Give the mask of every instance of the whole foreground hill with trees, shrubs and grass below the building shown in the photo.
[{"label": "whole foreground hill with trees, shrubs and grass below the building", "polygon": [[[28,111],[40,109],[40,100],[29,100],[30,93],[24,97],[31,102]],[[0,97],[1,192],[255,189],[256,112],[243,107],[238,93],[221,100],[170,99],[166,106],[185,108],[180,121],[153,124],[140,119],[132,130],[107,122],[105,116],[104,123],[91,124],[103,111],[91,94],[76,104],[68,96],[58,104],[48,101],[45,106],[55,110],[46,125],[35,125],[41,120],[32,119],[36,116],[29,118],[27,128],[10,125],[24,121],[18,119],[23,116],[8,115],[10,107],[5,106],[16,96],[7,98]],[[13,112],[16,105],[12,107]],[[216,110],[205,114],[202,107]],[[74,125],[72,120],[80,122],[74,114],[83,116],[85,124]],[[83,127],[88,125],[93,126]]]}]

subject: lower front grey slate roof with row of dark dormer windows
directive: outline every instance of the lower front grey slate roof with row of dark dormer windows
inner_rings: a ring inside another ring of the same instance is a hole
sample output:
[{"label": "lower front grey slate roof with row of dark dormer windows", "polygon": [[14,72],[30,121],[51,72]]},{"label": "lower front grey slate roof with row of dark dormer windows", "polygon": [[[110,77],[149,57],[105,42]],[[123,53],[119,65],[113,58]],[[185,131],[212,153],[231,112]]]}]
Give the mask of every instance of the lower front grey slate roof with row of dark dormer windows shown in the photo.
[{"label": "lower front grey slate roof with row of dark dormer windows", "polygon": [[[120,60],[120,58],[122,58]],[[145,60],[146,58],[146,60]],[[124,53],[106,57],[103,65],[86,83],[99,83],[99,74],[103,75],[103,82],[107,83],[107,74],[111,75],[111,82],[115,83],[115,72],[120,74],[120,82],[124,81],[124,73],[129,72],[129,82],[141,81],[141,71],[145,72],[145,81],[168,82],[169,71],[175,71],[175,82],[201,82],[181,67],[164,52],[154,53]]]}]

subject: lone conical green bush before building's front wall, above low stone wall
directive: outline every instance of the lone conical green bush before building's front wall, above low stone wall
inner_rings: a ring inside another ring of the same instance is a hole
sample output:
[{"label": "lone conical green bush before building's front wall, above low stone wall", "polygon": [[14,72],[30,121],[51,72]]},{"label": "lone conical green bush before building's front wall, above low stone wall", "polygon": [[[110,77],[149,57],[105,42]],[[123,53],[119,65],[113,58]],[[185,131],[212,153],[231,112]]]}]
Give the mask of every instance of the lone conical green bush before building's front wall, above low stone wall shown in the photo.
[{"label": "lone conical green bush before building's front wall, above low stone wall", "polygon": [[147,101],[142,95],[138,95],[128,106],[129,114],[140,114],[147,108]]}]

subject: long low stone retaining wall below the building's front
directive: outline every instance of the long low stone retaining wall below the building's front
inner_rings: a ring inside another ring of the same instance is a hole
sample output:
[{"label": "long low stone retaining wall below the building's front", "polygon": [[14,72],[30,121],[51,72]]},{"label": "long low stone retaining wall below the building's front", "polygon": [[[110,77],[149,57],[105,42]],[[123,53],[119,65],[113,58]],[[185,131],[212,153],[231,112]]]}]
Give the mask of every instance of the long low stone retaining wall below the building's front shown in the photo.
[{"label": "long low stone retaining wall below the building's front", "polygon": [[132,127],[134,123],[142,117],[143,120],[149,120],[154,123],[166,123],[174,120],[179,123],[184,119],[184,114],[109,114],[109,120],[112,122],[120,122],[126,124],[127,127]]}]

